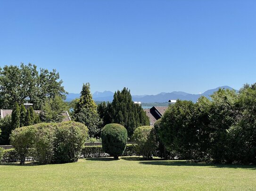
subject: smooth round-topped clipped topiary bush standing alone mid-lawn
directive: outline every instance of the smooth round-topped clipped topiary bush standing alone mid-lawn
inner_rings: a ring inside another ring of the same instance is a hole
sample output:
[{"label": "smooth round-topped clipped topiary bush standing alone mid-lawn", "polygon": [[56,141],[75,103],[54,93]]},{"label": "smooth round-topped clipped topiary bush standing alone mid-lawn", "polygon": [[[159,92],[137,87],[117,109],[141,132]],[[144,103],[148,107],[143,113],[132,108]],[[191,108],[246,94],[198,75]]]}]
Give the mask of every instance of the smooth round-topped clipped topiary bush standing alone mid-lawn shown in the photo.
[{"label": "smooth round-topped clipped topiary bush standing alone mid-lawn", "polygon": [[101,139],[103,151],[118,159],[126,148],[127,130],[120,124],[107,124],[101,130]]}]

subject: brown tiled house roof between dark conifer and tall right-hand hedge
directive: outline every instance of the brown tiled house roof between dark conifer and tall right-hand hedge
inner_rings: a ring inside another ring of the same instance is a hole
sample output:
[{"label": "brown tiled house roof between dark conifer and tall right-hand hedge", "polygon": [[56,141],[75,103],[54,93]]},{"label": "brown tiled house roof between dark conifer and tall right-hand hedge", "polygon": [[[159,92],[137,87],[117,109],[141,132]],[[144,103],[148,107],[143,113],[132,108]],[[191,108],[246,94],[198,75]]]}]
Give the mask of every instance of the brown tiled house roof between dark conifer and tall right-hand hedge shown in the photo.
[{"label": "brown tiled house roof between dark conifer and tall right-hand hedge", "polygon": [[160,119],[168,107],[153,106],[149,109],[144,109],[146,115],[149,117],[150,126],[154,126],[155,122]]}]

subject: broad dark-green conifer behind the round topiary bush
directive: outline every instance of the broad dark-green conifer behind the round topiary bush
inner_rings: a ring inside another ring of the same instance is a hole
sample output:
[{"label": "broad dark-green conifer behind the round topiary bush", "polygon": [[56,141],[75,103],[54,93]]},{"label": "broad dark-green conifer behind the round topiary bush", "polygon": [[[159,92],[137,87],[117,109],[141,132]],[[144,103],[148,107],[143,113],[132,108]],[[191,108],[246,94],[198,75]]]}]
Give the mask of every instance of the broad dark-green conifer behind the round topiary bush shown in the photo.
[{"label": "broad dark-green conifer behind the round topiary bush", "polygon": [[134,104],[130,90],[127,88],[115,92],[112,103],[99,104],[98,113],[104,124],[111,122],[123,125],[127,129],[129,138],[137,127],[149,125],[149,117],[139,104]]}]

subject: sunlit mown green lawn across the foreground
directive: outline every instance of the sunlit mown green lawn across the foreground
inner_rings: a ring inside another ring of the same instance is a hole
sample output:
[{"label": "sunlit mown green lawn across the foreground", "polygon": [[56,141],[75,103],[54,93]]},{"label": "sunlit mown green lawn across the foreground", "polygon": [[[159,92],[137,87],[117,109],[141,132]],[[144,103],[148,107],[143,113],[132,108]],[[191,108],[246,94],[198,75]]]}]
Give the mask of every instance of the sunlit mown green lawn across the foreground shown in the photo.
[{"label": "sunlit mown green lawn across the foreground", "polygon": [[0,191],[256,190],[256,166],[209,165],[138,157],[76,163],[0,164]]}]

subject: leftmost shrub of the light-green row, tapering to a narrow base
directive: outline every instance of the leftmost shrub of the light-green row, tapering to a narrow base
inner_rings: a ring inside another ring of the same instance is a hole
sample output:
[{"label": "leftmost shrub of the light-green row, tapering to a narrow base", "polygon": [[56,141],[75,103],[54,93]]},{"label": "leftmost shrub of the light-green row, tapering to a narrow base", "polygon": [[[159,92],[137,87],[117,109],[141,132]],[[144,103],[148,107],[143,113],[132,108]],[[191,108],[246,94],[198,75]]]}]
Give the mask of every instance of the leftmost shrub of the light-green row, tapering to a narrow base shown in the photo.
[{"label": "leftmost shrub of the light-green row, tapering to a narrow base", "polygon": [[35,126],[20,127],[12,130],[12,134],[10,136],[11,144],[14,145],[17,151],[21,165],[25,163],[28,148],[34,143],[35,132]]}]

